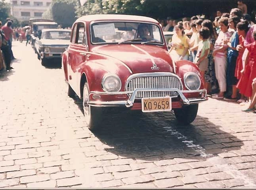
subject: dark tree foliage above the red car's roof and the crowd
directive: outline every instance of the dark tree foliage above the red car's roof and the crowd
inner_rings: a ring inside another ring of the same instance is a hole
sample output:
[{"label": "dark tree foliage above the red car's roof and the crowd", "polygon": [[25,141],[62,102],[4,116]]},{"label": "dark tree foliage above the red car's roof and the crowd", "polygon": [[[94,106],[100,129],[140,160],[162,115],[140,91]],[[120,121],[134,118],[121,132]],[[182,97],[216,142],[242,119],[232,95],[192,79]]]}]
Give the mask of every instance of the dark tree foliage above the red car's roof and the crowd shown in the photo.
[{"label": "dark tree foliage above the red car's roof and the crowd", "polygon": [[[246,4],[250,13],[249,9],[256,6],[256,1],[248,0]],[[229,12],[235,7],[237,2],[233,0],[86,0],[84,5],[76,6],[76,14],[78,17],[91,14],[144,15],[155,19],[204,14],[212,19],[217,9]]]}]

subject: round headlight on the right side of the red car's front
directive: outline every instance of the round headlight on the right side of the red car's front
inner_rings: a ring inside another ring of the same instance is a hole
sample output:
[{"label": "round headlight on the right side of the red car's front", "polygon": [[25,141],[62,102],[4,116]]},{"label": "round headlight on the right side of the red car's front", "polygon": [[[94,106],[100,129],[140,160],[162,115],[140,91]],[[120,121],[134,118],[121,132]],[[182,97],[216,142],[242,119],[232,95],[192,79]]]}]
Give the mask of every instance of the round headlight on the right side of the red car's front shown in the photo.
[{"label": "round headlight on the right side of the red car's front", "polygon": [[198,90],[201,86],[201,80],[194,72],[187,72],[184,74],[185,87],[189,90]]}]

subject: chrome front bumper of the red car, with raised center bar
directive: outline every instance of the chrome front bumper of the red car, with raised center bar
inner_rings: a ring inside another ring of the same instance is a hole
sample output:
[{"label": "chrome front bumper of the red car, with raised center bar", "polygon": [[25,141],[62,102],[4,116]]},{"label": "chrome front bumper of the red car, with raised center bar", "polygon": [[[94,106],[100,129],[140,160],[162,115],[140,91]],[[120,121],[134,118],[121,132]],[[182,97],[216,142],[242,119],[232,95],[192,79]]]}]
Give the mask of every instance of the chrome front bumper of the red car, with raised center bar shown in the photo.
[{"label": "chrome front bumper of the red car, with raised center bar", "polygon": [[[136,93],[138,91],[176,91],[178,92],[178,94],[180,95],[180,98],[183,101],[183,105],[191,105],[191,104],[198,104],[201,103],[203,101],[206,101],[206,89],[203,90],[178,90],[178,89],[173,89],[173,88],[160,88],[160,89],[154,89],[154,88],[137,88],[134,91],[123,91],[123,92],[98,92],[98,91],[92,91],[89,93],[89,97],[90,95],[94,94],[94,95],[122,95],[122,94],[129,94],[132,93],[132,95],[130,95],[129,99],[127,101],[91,101],[89,100],[87,102],[88,105],[90,106],[97,106],[97,107],[105,107],[105,106],[125,106],[127,108],[130,108],[134,105],[134,101],[136,99]],[[200,99],[197,98],[186,98],[183,93],[200,93],[200,94],[204,94],[204,96]],[[177,96],[175,96],[177,97]],[[172,97],[174,98],[174,97]]]}]

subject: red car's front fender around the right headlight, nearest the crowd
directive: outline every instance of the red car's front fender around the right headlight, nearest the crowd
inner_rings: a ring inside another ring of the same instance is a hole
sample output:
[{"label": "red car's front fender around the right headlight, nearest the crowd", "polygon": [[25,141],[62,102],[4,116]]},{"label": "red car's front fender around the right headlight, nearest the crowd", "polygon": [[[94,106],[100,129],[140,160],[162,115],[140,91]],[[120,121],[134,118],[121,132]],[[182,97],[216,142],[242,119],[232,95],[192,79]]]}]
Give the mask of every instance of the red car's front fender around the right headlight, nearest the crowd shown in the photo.
[{"label": "red car's front fender around the right headlight, nearest the crowd", "polygon": [[180,61],[176,61],[175,65],[176,65],[176,74],[181,78],[184,88],[185,88],[184,74],[187,72],[195,72],[200,77],[200,80],[201,80],[200,89],[204,88],[203,76],[199,68],[197,67],[197,65],[195,65],[195,63],[187,60],[180,60]]}]

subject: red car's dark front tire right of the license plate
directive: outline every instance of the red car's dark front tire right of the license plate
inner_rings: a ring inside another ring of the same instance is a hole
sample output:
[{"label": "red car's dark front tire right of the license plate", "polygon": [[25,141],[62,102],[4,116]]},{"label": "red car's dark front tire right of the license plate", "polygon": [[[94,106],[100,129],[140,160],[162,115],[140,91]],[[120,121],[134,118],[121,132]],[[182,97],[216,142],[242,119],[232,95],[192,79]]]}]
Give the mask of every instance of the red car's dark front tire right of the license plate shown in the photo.
[{"label": "red car's dark front tire right of the license plate", "polygon": [[185,106],[183,108],[174,109],[174,114],[178,122],[181,124],[190,124],[197,117],[198,104]]}]

